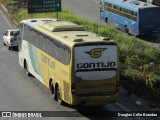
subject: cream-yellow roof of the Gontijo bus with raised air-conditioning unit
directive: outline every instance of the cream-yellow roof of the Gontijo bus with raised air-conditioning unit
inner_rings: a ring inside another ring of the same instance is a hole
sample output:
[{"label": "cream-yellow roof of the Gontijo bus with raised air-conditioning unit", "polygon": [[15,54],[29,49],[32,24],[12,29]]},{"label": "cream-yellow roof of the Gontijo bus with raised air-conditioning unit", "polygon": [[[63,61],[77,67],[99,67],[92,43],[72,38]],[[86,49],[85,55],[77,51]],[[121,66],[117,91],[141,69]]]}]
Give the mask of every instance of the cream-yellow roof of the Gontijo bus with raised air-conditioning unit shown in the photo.
[{"label": "cream-yellow roof of the Gontijo bus with raised air-conditioning unit", "polygon": [[27,19],[22,22],[67,45],[74,45],[77,42],[102,42],[109,40],[108,38],[100,37],[95,33],[85,31],[80,25],[62,20],[41,18]]}]

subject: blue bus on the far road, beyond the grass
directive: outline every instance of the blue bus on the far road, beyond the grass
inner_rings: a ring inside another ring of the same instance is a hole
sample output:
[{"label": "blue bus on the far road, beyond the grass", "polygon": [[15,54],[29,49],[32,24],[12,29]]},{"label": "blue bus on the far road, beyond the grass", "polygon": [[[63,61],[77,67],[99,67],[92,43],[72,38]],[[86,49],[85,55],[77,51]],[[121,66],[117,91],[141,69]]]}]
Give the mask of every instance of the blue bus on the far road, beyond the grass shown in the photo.
[{"label": "blue bus on the far road, beyond the grass", "polygon": [[100,19],[135,36],[160,32],[160,7],[135,0],[101,0]]}]

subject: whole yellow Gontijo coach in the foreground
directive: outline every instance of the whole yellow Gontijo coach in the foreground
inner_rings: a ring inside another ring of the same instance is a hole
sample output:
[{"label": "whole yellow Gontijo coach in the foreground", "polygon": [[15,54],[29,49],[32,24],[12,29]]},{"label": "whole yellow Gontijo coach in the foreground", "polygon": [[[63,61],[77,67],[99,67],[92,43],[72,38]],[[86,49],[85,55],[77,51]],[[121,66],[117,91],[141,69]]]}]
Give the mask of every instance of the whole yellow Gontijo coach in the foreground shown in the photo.
[{"label": "whole yellow Gontijo coach in the foreground", "polygon": [[117,100],[115,42],[77,24],[49,18],[23,20],[19,29],[19,64],[60,104],[96,106]]}]

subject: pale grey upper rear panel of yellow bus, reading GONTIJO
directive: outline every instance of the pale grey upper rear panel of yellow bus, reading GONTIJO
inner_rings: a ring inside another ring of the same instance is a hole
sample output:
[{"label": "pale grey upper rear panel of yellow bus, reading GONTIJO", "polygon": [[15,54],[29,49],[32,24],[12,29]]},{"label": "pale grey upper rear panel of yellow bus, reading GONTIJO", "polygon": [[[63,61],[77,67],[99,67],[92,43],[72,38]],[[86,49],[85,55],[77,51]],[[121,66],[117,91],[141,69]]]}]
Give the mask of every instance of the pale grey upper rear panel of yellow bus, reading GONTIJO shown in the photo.
[{"label": "pale grey upper rear panel of yellow bus, reading GONTIJO", "polygon": [[105,80],[117,73],[117,46],[75,47],[75,75],[78,80]]}]

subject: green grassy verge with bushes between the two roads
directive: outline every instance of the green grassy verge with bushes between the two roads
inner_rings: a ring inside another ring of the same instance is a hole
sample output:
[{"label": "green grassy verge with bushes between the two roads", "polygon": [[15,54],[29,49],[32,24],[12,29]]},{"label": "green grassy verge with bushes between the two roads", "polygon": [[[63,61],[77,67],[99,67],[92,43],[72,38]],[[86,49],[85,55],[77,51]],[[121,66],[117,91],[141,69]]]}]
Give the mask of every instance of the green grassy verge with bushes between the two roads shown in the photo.
[{"label": "green grassy verge with bushes between the two roads", "polygon": [[[16,23],[27,18],[56,18],[56,13],[27,14],[26,0],[3,0]],[[93,23],[68,10],[59,19],[82,25],[88,31],[110,37],[120,49],[120,84],[129,94],[136,94],[150,102],[160,101],[160,48],[134,36],[128,36],[108,24]]]}]

